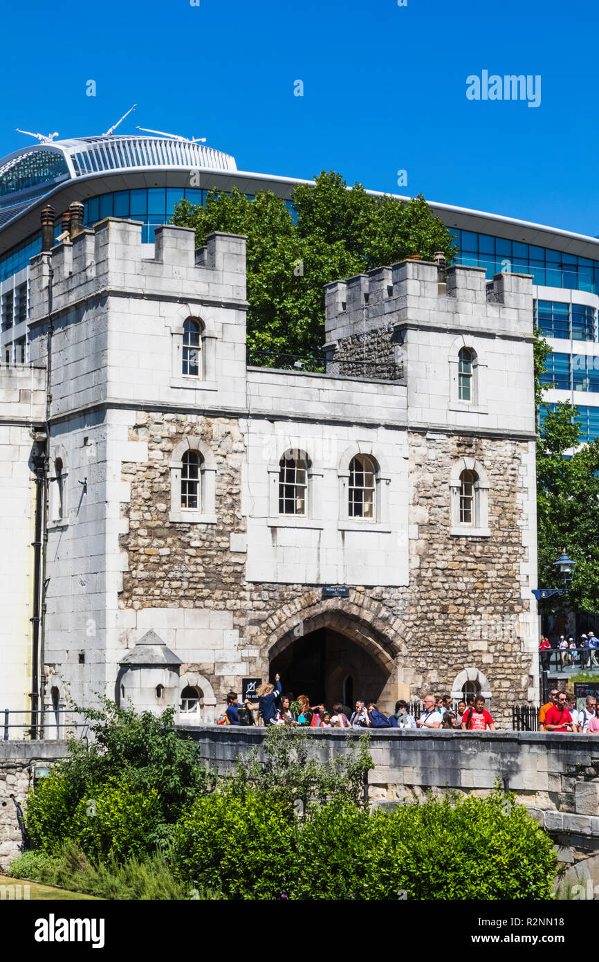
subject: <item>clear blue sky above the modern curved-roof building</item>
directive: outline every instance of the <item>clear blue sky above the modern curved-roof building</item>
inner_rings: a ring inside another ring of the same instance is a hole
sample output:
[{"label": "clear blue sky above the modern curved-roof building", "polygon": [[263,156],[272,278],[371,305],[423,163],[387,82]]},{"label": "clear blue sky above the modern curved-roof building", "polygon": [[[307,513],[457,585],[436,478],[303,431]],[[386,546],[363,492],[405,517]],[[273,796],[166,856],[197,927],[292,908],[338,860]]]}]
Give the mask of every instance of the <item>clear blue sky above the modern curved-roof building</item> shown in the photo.
[{"label": "clear blue sky above the modern curved-roof building", "polygon": [[[5,5],[0,156],[30,142],[15,127],[99,134],[137,102],[119,132],[207,137],[240,169],[599,235],[596,2],[199,2]],[[539,74],[540,106],[468,101],[484,69]]]}]

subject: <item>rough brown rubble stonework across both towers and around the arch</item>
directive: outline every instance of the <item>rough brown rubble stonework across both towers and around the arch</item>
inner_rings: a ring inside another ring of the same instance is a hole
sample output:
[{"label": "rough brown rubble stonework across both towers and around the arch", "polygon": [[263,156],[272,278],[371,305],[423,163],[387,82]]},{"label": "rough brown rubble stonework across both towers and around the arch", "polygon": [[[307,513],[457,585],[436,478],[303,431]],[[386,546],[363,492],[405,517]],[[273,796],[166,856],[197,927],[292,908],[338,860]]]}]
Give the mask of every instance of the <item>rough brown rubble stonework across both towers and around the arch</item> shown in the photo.
[{"label": "rough brown rubble stonework across both towers and around the arch", "polygon": [[[186,434],[209,444],[216,460],[215,525],[168,521],[168,464]],[[461,672],[473,668],[487,682],[497,722],[510,722],[512,703],[527,700],[532,655],[518,623],[528,610],[519,581],[528,443],[411,432],[410,587],[353,587],[349,599],[322,601],[319,587],[245,581],[245,556],[232,550],[232,535],[245,527],[244,442],[235,418],[139,413],[129,440],[148,444],[148,460],[123,466],[131,503],[123,506],[129,531],[120,548],[129,570],[119,606],[226,613],[235,639],[229,650],[211,635],[182,667],[210,679],[217,703],[238,690],[242,676],[265,678],[273,646],[284,646],[287,635],[322,626],[343,633],[348,620],[362,625],[366,650],[379,663],[387,659],[383,710],[400,695],[451,692]],[[490,538],[449,534],[449,472],[462,456],[487,468]],[[493,619],[500,630],[489,632]]]}]

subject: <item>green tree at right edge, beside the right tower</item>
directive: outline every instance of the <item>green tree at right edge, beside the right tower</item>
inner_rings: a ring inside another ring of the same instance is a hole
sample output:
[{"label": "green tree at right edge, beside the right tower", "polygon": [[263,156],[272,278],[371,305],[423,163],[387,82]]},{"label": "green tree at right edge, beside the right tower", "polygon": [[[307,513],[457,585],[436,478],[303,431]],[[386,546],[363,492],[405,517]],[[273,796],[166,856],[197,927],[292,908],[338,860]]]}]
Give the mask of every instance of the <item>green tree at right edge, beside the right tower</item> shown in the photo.
[{"label": "green tree at right edge, beside the right tower", "polygon": [[599,442],[581,443],[578,408],[567,401],[552,411],[541,384],[551,347],[536,331],[535,398],[542,418],[537,432],[538,584],[560,588],[553,562],[565,548],[576,561],[567,598],[554,595],[544,610],[560,607],[599,611]]}]

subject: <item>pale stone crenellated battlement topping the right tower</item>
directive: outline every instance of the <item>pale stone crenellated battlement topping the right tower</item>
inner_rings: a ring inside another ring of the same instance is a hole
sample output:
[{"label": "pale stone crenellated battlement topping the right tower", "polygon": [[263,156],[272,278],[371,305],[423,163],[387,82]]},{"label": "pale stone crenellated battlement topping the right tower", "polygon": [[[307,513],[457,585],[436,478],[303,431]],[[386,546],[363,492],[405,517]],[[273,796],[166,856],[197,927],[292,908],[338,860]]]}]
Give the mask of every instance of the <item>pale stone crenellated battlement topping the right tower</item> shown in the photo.
[{"label": "pale stone crenellated battlement topping the right tower", "polygon": [[496,274],[487,282],[483,267],[452,265],[443,279],[436,263],[402,261],[326,286],[326,340],[411,323],[527,337],[532,309],[528,274]]}]

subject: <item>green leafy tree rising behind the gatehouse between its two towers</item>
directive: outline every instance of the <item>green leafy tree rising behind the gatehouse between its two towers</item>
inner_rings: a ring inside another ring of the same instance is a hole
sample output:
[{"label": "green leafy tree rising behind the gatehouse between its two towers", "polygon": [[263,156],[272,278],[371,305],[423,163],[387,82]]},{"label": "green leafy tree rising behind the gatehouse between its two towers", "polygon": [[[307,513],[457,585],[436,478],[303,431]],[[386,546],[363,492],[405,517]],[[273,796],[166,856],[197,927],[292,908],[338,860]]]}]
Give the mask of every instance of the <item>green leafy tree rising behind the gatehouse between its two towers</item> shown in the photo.
[{"label": "green leafy tree rising behind the gatehouse between its two towers", "polygon": [[205,205],[182,201],[173,223],[195,230],[197,246],[212,231],[247,236],[247,343],[254,351],[314,357],[321,365],[324,286],[412,254],[431,260],[456,248],[424,197],[403,203],[376,198],[361,184],[349,190],[340,174],[323,171],[314,186],[297,185],[293,215],[280,197],[259,191],[254,200],[239,192],[212,190]]}]

